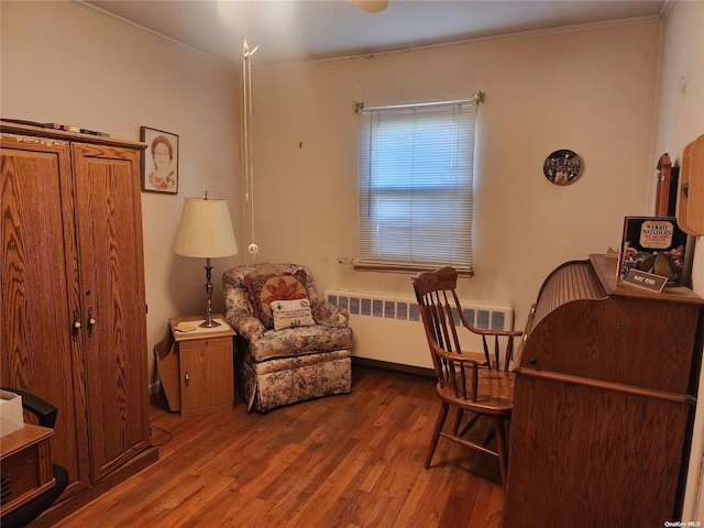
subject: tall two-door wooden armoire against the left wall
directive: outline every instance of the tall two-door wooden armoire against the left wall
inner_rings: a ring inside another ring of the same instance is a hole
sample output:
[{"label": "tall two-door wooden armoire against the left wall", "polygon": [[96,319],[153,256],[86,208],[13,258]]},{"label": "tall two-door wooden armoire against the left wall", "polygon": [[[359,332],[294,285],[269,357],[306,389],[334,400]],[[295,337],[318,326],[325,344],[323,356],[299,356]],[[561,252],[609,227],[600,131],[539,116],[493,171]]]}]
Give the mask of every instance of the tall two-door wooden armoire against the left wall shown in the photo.
[{"label": "tall two-door wooden armoire against the left wall", "polygon": [[58,408],[53,462],[69,484],[50,522],[158,458],[148,426],[146,145],[6,121],[0,142],[0,384]]}]

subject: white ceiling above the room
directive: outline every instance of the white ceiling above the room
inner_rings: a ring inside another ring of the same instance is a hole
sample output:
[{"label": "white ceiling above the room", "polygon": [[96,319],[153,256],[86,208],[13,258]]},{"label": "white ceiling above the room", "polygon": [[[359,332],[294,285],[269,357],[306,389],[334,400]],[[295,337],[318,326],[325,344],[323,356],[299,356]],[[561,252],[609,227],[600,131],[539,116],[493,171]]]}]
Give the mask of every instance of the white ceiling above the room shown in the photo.
[{"label": "white ceiling above the room", "polygon": [[470,38],[660,15],[650,0],[389,0],[371,13],[345,0],[86,0],[85,3],[241,65],[343,57]]}]

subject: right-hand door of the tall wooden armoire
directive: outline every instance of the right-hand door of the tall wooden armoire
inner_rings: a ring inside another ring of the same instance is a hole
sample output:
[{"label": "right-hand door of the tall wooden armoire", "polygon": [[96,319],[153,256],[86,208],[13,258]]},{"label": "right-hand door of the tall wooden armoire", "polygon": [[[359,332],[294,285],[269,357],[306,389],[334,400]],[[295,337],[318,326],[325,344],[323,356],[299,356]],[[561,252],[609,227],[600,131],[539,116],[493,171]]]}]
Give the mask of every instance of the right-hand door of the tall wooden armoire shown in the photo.
[{"label": "right-hand door of the tall wooden armoire", "polygon": [[134,213],[139,155],[74,145],[94,480],[144,449],[148,438],[142,226]]}]

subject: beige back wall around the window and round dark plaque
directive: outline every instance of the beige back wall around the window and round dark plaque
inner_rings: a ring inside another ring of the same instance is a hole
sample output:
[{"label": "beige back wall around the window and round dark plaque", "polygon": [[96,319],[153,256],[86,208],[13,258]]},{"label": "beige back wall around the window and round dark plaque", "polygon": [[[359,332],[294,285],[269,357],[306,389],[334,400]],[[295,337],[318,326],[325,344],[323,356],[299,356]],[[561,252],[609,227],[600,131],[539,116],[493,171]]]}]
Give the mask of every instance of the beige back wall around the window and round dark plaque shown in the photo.
[{"label": "beige back wall around the window and round dark plaque", "polygon": [[[353,101],[400,105],[482,90],[476,273],[460,290],[514,306],[522,328],[550,271],[618,248],[624,216],[649,212],[659,42],[660,23],[648,21],[254,67],[257,258],[306,262],[319,287],[411,294],[407,274],[348,263],[358,254]],[[570,186],[542,174],[558,148],[584,161]],[[424,344],[398,342],[399,362],[408,346]]]}]

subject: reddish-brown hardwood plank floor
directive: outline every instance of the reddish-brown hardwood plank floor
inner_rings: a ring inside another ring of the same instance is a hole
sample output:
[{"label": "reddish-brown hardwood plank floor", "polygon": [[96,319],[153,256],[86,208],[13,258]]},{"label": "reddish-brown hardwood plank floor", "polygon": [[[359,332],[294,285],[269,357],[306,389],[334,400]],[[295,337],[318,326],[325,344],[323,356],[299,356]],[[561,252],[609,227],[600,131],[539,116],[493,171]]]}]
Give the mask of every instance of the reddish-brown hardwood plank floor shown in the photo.
[{"label": "reddish-brown hardwood plank floor", "polygon": [[498,527],[495,459],[441,439],[424,468],[435,381],[358,365],[352,377],[349,395],[266,415],[238,399],[182,418],[155,403],[160,461],[56,526]]}]

